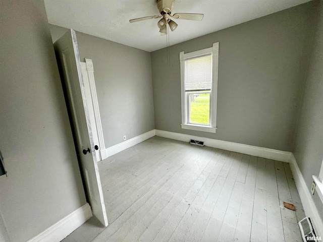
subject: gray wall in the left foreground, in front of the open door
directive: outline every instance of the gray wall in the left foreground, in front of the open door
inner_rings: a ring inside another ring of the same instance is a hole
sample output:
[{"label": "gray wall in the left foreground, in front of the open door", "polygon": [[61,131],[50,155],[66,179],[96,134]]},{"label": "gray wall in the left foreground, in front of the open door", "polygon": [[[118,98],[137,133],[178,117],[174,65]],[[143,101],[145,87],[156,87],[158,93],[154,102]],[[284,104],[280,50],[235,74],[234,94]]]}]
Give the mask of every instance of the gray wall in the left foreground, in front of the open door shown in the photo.
[{"label": "gray wall in the left foreground, in front of the open door", "polygon": [[44,3],[4,0],[0,16],[0,238],[20,242],[86,200]]}]

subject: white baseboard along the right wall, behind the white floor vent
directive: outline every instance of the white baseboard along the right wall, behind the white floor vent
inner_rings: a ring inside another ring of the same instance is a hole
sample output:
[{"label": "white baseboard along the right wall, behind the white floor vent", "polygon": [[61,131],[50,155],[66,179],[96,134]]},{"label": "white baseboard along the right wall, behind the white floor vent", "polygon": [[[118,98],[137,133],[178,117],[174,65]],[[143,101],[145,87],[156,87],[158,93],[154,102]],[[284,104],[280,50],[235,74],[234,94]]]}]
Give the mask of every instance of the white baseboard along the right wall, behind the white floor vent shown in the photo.
[{"label": "white baseboard along the right wall, behind the white floor vent", "polygon": [[294,155],[291,155],[289,162],[299,197],[302,201],[306,217],[310,217],[314,226],[316,236],[323,236],[323,221],[321,220],[318,210],[313,201],[313,197],[306,186],[304,177],[297,165]]}]

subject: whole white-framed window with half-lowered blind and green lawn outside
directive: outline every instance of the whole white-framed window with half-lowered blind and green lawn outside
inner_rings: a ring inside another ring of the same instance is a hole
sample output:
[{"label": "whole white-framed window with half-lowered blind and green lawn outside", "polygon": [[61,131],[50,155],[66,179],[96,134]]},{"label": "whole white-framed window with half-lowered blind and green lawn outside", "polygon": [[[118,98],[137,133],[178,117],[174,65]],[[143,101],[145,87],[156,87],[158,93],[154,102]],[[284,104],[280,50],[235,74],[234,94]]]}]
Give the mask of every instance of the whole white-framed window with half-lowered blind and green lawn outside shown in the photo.
[{"label": "whole white-framed window with half-lowered blind and green lawn outside", "polygon": [[219,42],[180,52],[182,129],[216,133]]}]

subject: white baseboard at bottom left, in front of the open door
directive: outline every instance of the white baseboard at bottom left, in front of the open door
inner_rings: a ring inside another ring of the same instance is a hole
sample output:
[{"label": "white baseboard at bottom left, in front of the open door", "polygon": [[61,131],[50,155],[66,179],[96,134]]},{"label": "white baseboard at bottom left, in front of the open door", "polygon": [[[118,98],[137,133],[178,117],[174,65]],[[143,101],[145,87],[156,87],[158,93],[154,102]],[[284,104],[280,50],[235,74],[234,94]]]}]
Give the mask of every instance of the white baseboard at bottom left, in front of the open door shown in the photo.
[{"label": "white baseboard at bottom left, in front of the open door", "polygon": [[59,242],[92,217],[88,203],[51,225],[28,242]]}]

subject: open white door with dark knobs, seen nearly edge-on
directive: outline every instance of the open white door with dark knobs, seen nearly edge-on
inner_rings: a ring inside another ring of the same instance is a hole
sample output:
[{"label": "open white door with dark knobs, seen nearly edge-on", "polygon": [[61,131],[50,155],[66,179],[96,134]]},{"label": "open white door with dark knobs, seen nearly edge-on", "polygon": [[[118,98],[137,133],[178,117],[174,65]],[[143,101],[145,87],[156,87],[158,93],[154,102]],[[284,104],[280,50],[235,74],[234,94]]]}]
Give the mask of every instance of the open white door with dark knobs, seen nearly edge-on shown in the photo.
[{"label": "open white door with dark knobs, seen nearly edge-on", "polygon": [[80,162],[83,180],[86,183],[87,200],[93,215],[107,226],[96,151],[92,137],[91,117],[86,103],[86,90],[83,82],[81,62],[73,29],[55,42],[59,66],[66,87],[70,118],[74,131],[76,153]]}]

